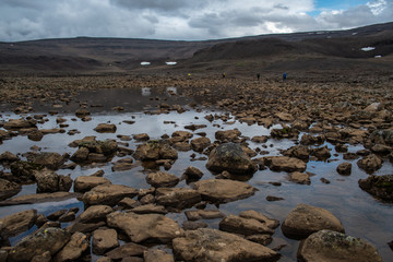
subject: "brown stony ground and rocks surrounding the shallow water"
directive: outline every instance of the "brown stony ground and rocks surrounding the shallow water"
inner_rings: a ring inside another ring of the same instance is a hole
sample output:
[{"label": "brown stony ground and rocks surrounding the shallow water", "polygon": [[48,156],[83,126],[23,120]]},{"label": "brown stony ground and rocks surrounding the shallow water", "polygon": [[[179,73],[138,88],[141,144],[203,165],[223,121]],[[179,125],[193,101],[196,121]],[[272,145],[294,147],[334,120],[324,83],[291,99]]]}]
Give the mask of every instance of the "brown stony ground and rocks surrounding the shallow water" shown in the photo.
[{"label": "brown stony ground and rocks surrounding the shallow water", "polygon": [[[211,141],[200,132],[204,127],[190,124],[186,130],[163,135],[162,140],[151,140],[146,133],[118,135],[117,140],[85,136],[69,145],[74,148],[72,155],[33,151],[15,155],[0,151],[3,167],[0,205],[70,198],[78,198],[84,204],[82,212],[59,210],[45,216],[31,209],[0,218],[0,261],[91,261],[92,253],[99,257],[97,261],[100,262],[278,261],[281,247],[265,247],[272,242],[275,230],[301,240],[299,261],[382,261],[376,247],[345,235],[341,221],[318,206],[299,203],[284,221],[255,210],[223,214],[219,209],[205,207],[250,198],[257,189],[237,178],[250,177],[266,168],[285,171],[291,181],[309,184],[312,174],[306,171],[308,162],[332,157],[325,142],[334,145],[344,159],[357,159],[357,166],[369,174],[354,187],[379,201],[392,203],[393,175],[374,175],[384,162],[393,162],[393,86],[385,78],[285,83],[181,76],[2,79],[1,103],[21,117],[0,123],[0,150],[2,141],[19,135],[40,141],[51,133],[72,135],[79,132],[69,130],[66,133],[67,120],[61,117],[57,118],[58,128],[39,129],[37,124],[45,122],[46,117],[36,114],[35,107],[41,104],[49,105],[47,114],[56,116],[76,103],[79,108],[70,112],[79,120],[90,121],[99,102],[78,102],[80,92],[142,86],[158,92],[162,86],[177,86],[183,97],[193,99],[189,105],[180,105],[156,97],[151,100],[156,108],[146,114],[215,107],[227,114],[206,115],[210,121],[240,121],[266,128],[281,123],[282,128],[272,129],[270,135],[253,138],[245,138],[239,130],[227,128],[216,131],[215,141]],[[124,105],[102,107],[128,110]],[[92,129],[98,133],[115,133],[117,127],[100,123]],[[297,143],[281,155],[258,156],[263,155],[267,139]],[[124,141],[131,140],[139,142],[136,148],[124,146]],[[250,148],[249,141],[260,143],[262,148]],[[362,145],[364,150],[348,153],[348,145]],[[215,179],[204,179],[204,174],[193,166],[183,174],[170,174],[178,152],[188,151],[205,155],[206,168],[216,175]],[[57,174],[60,168],[72,170],[76,165],[109,164],[115,155],[121,159],[114,164],[114,171],[129,170],[144,162],[154,162],[162,169],[146,175],[150,189],[114,184],[100,171],[74,180]],[[349,176],[352,164],[338,165],[337,174]],[[177,187],[181,180],[187,180],[188,187]],[[329,183],[326,179],[324,182]],[[26,183],[37,184],[36,194],[14,196]],[[166,216],[170,213],[184,213],[188,221],[179,225]],[[218,228],[209,228],[202,222],[217,218],[221,219]],[[70,224],[62,228],[61,223]],[[11,247],[9,238],[34,225],[37,230]],[[152,248],[155,245],[168,248]]]}]

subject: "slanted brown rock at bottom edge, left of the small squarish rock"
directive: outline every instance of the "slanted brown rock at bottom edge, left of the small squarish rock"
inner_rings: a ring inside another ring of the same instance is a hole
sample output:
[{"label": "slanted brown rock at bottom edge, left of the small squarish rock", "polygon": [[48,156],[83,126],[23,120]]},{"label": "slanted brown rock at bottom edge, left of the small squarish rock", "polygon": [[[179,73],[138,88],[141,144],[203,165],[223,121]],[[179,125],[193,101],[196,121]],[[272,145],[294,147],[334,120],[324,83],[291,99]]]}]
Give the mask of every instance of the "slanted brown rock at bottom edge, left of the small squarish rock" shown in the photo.
[{"label": "slanted brown rock at bottom edge, left of the small squarish rock", "polygon": [[71,240],[64,246],[64,248],[58,252],[53,261],[55,262],[69,262],[78,261],[82,253],[88,248],[88,239],[83,233],[74,233],[71,236]]}]

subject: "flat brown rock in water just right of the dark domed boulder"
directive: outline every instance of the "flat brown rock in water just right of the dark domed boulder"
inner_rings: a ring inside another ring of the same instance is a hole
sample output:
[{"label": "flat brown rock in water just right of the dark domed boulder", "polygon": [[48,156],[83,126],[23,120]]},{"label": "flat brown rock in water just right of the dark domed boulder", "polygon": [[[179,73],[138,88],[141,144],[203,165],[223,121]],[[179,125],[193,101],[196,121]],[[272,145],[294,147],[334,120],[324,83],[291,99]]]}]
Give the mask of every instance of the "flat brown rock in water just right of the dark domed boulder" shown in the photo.
[{"label": "flat brown rock in water just right of the dark domed boulder", "polygon": [[265,164],[274,171],[305,171],[307,164],[298,158],[288,156],[264,157]]}]

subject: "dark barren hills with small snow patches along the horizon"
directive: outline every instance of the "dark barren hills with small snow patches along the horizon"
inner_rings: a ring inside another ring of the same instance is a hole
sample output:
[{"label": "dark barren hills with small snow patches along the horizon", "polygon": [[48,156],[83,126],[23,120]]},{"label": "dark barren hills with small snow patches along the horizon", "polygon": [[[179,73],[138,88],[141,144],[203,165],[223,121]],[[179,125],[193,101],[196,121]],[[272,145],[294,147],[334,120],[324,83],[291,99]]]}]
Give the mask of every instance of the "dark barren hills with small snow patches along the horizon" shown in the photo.
[{"label": "dark barren hills with small snow patches along the horizon", "polygon": [[[362,49],[371,47],[369,49]],[[348,31],[259,35],[204,41],[61,38],[0,43],[0,73],[110,73],[163,70],[392,70],[393,23]],[[377,58],[381,59],[377,59]],[[142,67],[142,61],[152,64]],[[178,61],[165,66],[165,61]],[[369,64],[369,66],[368,66]]]}]

